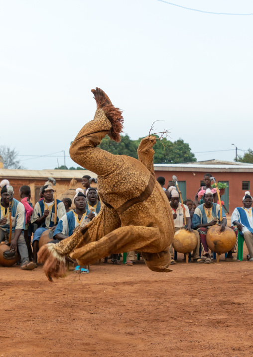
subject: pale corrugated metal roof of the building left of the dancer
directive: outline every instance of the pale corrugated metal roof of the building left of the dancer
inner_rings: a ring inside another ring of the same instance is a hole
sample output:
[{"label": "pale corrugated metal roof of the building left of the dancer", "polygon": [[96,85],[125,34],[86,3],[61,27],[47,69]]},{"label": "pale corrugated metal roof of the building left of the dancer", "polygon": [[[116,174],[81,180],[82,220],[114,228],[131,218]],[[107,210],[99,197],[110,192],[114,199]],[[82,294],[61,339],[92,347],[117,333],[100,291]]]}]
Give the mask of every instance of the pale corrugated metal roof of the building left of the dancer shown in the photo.
[{"label": "pale corrugated metal roof of the building left of the dancer", "polygon": [[97,178],[97,175],[88,170],[14,170],[0,169],[0,178],[82,178],[89,175]]}]

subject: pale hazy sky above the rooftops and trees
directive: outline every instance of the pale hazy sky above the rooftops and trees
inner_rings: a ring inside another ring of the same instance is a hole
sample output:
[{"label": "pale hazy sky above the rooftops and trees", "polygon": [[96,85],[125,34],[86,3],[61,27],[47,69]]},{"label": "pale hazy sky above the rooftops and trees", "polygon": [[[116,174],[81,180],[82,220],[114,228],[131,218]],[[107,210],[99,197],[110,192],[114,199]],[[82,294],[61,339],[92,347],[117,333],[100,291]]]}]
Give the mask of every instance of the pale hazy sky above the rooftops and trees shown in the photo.
[{"label": "pale hazy sky above the rooftops and trees", "polygon": [[[253,13],[252,0],[172,2]],[[77,166],[69,146],[94,117],[95,87],[124,110],[131,139],[163,120],[155,129],[197,160],[253,149],[253,15],[158,0],[0,0],[0,9],[0,145],[24,168],[61,166],[63,151]]]}]

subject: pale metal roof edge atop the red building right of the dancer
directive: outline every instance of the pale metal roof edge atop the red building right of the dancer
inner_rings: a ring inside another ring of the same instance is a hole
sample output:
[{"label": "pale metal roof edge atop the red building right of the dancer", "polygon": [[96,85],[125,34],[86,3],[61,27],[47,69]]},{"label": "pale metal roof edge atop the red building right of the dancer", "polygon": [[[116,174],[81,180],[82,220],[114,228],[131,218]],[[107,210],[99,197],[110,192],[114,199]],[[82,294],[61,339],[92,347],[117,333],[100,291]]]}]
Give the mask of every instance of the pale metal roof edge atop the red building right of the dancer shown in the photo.
[{"label": "pale metal roof edge atop the red building right of the dancer", "polygon": [[154,164],[155,171],[253,172],[253,165]]}]

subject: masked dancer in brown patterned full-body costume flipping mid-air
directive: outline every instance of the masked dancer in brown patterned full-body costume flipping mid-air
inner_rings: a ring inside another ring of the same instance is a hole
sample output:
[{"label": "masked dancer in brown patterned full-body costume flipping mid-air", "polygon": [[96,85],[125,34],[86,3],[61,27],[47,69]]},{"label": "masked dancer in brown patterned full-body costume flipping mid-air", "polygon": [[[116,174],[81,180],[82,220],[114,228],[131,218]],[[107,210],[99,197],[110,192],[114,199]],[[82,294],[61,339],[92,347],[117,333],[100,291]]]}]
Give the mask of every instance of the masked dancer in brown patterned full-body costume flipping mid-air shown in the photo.
[{"label": "masked dancer in brown patterned full-body costume flipping mid-air", "polygon": [[101,89],[93,92],[98,109],[94,120],[85,124],[72,143],[70,156],[98,175],[98,192],[103,204],[99,214],[79,232],[54,247],[41,248],[40,260],[46,262],[44,270],[49,278],[62,276],[59,263],[53,262],[52,255],[61,260],[59,255],[69,254],[80,265],[87,265],[113,253],[137,250],[151,270],[171,271],[167,248],[174,236],[173,216],[154,175],[156,139],[154,136],[142,139],[139,160],[97,148],[107,134],[119,141],[122,129],[119,122],[123,118]]}]

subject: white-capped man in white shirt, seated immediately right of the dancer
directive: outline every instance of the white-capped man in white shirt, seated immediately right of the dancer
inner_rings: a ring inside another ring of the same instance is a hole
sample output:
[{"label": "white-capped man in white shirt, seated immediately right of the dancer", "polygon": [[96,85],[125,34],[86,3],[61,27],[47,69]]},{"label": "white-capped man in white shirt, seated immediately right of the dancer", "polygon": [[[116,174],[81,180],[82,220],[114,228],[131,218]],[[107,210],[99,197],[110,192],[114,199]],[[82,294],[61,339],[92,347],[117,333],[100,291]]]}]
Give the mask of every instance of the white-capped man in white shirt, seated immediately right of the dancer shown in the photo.
[{"label": "white-capped man in white shirt, seated immediately right of the dancer", "polygon": [[[173,218],[174,218],[175,232],[177,232],[179,229],[186,229],[190,232],[194,232],[194,234],[197,238],[197,246],[193,251],[193,263],[203,263],[203,261],[199,257],[199,247],[200,247],[199,233],[191,228],[192,222],[191,222],[190,212],[189,212],[189,208],[187,207],[186,204],[184,204],[185,215],[186,215],[186,226],[184,226],[183,207],[182,207],[181,202],[179,202],[179,193],[176,189],[173,189],[171,191],[170,207],[171,207]],[[170,246],[170,254],[171,254],[171,257],[174,258],[174,252],[173,252],[172,245]],[[176,262],[174,261],[173,258],[172,258],[171,262],[172,262],[172,264],[175,264]],[[173,262],[175,262],[175,263],[173,263]]]}]

